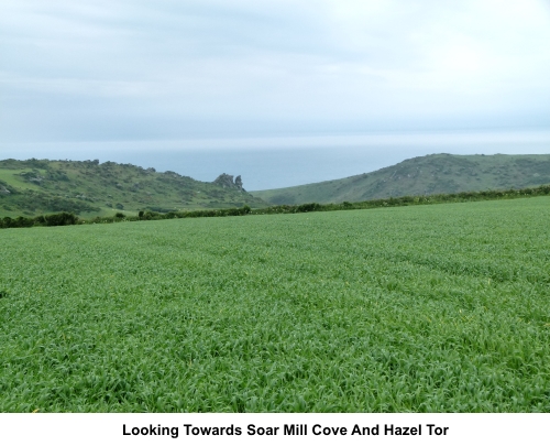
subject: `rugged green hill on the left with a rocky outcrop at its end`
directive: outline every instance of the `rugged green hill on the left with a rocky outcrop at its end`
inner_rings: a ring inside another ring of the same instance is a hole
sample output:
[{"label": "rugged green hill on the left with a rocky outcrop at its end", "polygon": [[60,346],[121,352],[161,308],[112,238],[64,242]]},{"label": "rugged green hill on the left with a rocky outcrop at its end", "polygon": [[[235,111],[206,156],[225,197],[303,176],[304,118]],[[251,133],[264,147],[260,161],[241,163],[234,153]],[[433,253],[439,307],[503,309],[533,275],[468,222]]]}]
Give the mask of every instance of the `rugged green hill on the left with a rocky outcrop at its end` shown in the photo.
[{"label": "rugged green hill on the left with a rocky outcrop at its end", "polygon": [[0,217],[72,211],[81,216],[141,209],[265,207],[222,174],[212,183],[175,172],[99,161],[0,161]]}]

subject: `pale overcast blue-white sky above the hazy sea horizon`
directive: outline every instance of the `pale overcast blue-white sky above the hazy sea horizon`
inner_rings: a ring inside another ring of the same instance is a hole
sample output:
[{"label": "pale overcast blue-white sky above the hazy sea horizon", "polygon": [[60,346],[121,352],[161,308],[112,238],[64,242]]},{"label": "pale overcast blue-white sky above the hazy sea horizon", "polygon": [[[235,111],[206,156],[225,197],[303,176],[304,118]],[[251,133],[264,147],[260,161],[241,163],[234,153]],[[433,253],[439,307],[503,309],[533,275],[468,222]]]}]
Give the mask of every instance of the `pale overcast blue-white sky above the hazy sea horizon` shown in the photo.
[{"label": "pale overcast blue-white sky above the hazy sea horizon", "polygon": [[2,0],[0,56],[3,143],[550,128],[549,0]]}]

